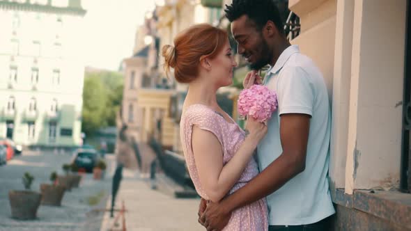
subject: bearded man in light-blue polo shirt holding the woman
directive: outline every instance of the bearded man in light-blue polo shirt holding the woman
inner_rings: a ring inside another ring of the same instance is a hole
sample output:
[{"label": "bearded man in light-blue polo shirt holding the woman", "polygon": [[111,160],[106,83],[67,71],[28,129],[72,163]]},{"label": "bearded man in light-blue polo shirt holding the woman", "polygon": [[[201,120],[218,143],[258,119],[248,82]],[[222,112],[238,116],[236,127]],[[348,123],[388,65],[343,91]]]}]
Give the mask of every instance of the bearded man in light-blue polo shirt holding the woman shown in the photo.
[{"label": "bearded man in light-blue polo shirt holding the woman", "polygon": [[[225,11],[238,53],[253,70],[270,65],[264,84],[275,90],[279,105],[258,145],[261,173],[219,203],[202,200],[199,222],[207,230],[222,230],[235,209],[267,197],[269,230],[328,230],[327,217],[335,211],[327,175],[331,116],[323,75],[290,45],[272,0],[233,0]],[[246,88],[258,82],[251,73]]]}]

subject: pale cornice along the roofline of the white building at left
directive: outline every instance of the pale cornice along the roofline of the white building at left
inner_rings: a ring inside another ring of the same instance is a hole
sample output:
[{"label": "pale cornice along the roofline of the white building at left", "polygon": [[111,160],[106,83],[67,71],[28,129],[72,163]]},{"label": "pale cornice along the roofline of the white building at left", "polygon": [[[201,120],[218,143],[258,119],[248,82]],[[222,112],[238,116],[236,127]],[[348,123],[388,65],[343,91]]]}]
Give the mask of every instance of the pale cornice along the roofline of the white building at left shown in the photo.
[{"label": "pale cornice along the roofline of the white building at left", "polygon": [[61,15],[86,15],[86,10],[83,8],[73,8],[73,7],[56,7],[50,5],[38,5],[26,3],[17,3],[9,1],[0,1],[0,9],[5,10],[18,10],[18,11],[31,11],[31,12],[41,12],[41,13],[56,13]]}]

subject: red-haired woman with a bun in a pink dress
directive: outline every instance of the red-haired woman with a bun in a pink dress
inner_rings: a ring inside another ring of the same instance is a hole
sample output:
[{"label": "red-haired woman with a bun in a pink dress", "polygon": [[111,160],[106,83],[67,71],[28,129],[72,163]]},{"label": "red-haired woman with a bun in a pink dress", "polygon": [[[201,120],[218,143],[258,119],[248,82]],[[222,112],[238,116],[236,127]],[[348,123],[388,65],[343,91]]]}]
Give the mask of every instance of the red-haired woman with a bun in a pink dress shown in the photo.
[{"label": "red-haired woman with a bun in a pink dress", "polygon": [[[188,83],[180,120],[180,137],[189,175],[199,195],[213,202],[240,189],[258,174],[254,150],[267,127],[247,120],[249,134],[217,104],[217,89],[233,83],[235,63],[228,35],[208,24],[181,32],[175,47],[162,48],[164,68]],[[267,230],[265,200],[233,212],[224,230]]]}]

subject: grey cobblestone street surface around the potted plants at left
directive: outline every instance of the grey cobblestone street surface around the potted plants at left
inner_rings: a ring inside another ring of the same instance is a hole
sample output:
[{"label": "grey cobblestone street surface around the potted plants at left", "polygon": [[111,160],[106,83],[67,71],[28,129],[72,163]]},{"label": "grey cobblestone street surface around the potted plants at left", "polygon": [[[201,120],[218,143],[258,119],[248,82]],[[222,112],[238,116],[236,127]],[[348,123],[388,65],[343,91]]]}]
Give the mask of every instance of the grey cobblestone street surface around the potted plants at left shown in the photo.
[{"label": "grey cobblestone street surface around the potted plants at left", "polygon": [[[109,173],[114,158],[107,157]],[[40,191],[40,184],[49,183],[49,174],[54,170],[61,174],[61,165],[70,159],[69,153],[24,152],[6,166],[0,166],[0,230],[100,230],[104,214],[101,209],[110,193],[109,174],[101,181],[93,180],[91,174],[84,175],[79,188],[65,192],[61,207],[40,205],[36,220],[16,221],[10,217],[8,191],[23,189],[21,177],[24,172],[29,171],[35,177],[31,189]]]}]

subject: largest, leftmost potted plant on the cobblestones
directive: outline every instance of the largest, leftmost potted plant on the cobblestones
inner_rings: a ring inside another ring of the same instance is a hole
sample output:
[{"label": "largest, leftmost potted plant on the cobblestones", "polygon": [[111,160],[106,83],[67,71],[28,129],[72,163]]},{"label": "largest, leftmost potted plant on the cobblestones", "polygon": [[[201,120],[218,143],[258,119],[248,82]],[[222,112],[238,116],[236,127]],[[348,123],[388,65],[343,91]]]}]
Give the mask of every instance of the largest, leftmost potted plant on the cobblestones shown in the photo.
[{"label": "largest, leftmost potted plant on the cobblestones", "polygon": [[31,191],[34,177],[30,173],[24,173],[22,182],[24,191],[11,190],[8,192],[10,200],[11,216],[20,220],[31,220],[36,218],[37,209],[40,205],[41,194]]}]

